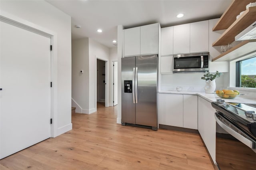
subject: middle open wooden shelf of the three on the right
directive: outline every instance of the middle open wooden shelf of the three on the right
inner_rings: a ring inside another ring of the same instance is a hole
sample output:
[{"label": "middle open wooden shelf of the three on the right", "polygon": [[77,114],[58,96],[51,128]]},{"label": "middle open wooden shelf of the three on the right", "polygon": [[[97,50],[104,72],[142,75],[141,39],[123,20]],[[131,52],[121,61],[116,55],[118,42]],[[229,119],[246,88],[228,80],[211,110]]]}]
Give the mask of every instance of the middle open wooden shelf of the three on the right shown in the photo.
[{"label": "middle open wooden shelf of the three on the right", "polygon": [[228,45],[235,41],[235,36],[256,20],[256,6],[249,7],[244,13],[218,38],[212,46]]}]

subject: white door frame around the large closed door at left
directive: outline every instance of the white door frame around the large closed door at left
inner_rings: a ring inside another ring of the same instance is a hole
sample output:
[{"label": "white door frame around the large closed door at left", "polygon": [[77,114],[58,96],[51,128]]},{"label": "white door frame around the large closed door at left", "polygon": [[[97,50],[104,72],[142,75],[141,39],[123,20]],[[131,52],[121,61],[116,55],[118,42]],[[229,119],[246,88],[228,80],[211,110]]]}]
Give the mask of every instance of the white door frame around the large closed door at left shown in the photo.
[{"label": "white door frame around the large closed door at left", "polygon": [[[55,32],[52,32],[51,30],[48,30],[46,28],[43,28],[41,26],[38,26],[37,24],[28,22],[27,20],[24,20],[22,18],[16,17],[12,14],[9,14],[7,12],[1,11],[0,12],[0,20],[2,22],[8,22],[8,24],[12,24],[14,26],[18,26],[22,29],[29,30],[31,32],[35,32],[36,34],[41,34],[44,36],[49,36],[51,39],[51,45],[52,45],[52,51],[50,51],[50,79],[52,82],[52,88],[51,88],[51,118],[52,118],[52,124],[50,125],[51,128],[51,137],[58,136],[58,60],[57,60],[57,34]],[[49,47],[50,50],[50,47]],[[50,82],[49,82],[50,85]],[[50,120],[49,120],[50,121]]]}]

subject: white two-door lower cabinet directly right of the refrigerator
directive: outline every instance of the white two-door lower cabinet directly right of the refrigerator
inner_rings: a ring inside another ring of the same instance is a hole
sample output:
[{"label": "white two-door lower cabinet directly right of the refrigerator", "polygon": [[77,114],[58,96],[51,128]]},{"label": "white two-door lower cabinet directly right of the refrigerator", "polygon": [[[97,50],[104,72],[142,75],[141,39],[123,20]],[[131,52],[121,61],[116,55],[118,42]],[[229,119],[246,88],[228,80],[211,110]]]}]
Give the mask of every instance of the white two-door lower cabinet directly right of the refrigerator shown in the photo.
[{"label": "white two-door lower cabinet directly right of the refrigerator", "polygon": [[159,94],[159,124],[197,129],[197,96]]}]

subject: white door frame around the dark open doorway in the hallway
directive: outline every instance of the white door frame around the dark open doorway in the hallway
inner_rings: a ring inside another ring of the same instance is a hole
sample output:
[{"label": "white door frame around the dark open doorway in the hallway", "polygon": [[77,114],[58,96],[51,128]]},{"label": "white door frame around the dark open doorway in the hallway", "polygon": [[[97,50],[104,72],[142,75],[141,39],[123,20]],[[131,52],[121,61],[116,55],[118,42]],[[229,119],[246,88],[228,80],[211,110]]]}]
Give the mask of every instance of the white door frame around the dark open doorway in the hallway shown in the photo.
[{"label": "white door frame around the dark open doorway in the hallway", "polygon": [[95,57],[95,111],[97,111],[97,59],[105,61],[105,107],[108,107],[108,60],[102,59],[100,57]]}]

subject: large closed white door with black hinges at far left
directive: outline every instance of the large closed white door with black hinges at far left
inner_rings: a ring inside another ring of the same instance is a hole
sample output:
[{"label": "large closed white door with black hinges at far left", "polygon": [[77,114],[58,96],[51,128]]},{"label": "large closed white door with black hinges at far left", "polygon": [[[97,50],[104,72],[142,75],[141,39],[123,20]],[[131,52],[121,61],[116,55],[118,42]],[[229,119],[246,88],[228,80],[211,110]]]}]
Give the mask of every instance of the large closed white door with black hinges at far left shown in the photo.
[{"label": "large closed white door with black hinges at far left", "polygon": [[50,37],[0,22],[0,158],[50,138]]}]

